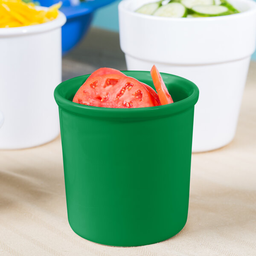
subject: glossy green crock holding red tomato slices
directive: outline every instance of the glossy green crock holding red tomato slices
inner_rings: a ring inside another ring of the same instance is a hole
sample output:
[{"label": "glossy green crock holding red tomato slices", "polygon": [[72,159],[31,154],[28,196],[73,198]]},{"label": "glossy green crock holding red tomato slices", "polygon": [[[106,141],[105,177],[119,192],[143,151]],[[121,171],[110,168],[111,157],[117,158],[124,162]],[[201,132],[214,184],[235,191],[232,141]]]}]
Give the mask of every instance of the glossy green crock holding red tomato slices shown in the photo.
[{"label": "glossy green crock holding red tomato slices", "polygon": [[[125,71],[154,88],[149,72]],[[79,236],[113,246],[153,244],[186,224],[198,87],[162,73],[175,103],[99,108],[73,103],[87,76],[56,87],[67,213]]]}]

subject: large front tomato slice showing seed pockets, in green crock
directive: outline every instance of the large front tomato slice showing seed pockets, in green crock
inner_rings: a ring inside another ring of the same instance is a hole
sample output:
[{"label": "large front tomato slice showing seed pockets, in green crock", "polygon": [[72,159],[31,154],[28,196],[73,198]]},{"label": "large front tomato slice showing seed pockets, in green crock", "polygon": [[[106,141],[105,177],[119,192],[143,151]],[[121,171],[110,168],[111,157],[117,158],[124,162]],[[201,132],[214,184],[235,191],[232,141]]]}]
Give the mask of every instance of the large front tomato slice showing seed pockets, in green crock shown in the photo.
[{"label": "large front tomato slice showing seed pockets, in green crock", "polygon": [[118,74],[88,78],[77,91],[73,102],[103,108],[154,106],[154,99],[140,81]]}]

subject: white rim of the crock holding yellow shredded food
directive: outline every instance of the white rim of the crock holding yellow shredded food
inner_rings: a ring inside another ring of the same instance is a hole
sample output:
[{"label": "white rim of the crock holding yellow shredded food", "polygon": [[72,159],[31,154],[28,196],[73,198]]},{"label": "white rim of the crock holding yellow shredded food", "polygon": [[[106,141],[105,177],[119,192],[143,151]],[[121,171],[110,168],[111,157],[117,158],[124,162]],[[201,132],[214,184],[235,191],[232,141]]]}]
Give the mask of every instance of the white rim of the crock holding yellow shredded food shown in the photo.
[{"label": "white rim of the crock holding yellow shredded food", "polygon": [[[39,7],[38,9],[47,10],[47,7]],[[46,32],[52,29],[59,28],[63,26],[67,21],[64,13],[58,11],[58,17],[54,20],[29,26],[20,26],[13,28],[0,28],[0,37],[14,36],[14,35],[28,35],[28,34],[38,34]]]}]

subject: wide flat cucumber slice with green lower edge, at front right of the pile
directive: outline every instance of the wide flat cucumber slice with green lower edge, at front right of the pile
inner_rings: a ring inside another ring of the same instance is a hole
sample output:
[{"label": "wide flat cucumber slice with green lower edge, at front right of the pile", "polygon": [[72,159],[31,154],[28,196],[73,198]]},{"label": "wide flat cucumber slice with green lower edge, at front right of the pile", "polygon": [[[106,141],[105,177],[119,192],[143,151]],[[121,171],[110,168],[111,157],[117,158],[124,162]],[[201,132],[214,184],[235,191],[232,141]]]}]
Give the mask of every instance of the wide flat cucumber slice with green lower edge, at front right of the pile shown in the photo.
[{"label": "wide flat cucumber slice with green lower edge, at front right of the pile", "polygon": [[192,7],[192,11],[204,17],[224,16],[231,14],[230,10],[227,7],[215,5],[194,6]]}]

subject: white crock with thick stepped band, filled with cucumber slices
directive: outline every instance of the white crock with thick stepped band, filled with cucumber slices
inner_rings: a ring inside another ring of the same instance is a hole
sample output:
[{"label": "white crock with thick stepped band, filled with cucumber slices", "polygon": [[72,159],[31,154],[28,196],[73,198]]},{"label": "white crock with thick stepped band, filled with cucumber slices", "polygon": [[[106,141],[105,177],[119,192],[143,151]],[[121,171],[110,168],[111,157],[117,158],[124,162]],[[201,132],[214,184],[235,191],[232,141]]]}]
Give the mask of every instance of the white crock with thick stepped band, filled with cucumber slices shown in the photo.
[{"label": "white crock with thick stepped band, filled with cucumber slices", "polygon": [[[250,56],[256,48],[256,3],[230,0],[241,13],[221,17],[166,18],[134,12],[148,0],[119,3],[120,44],[128,70],[189,79],[200,90],[193,152],[233,140]],[[153,1],[152,1],[153,2]]]}]

